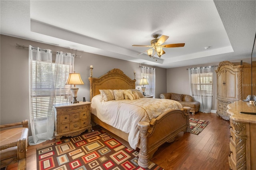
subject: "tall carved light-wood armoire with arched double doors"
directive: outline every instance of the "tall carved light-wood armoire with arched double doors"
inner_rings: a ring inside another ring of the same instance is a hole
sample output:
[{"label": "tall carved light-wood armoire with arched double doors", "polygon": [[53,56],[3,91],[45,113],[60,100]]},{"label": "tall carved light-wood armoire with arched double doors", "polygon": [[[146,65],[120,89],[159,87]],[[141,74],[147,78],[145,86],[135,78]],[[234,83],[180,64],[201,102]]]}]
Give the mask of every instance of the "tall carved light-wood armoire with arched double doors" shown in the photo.
[{"label": "tall carved light-wood armoire with arched double doors", "polygon": [[229,120],[230,116],[226,113],[228,104],[244,100],[248,95],[255,95],[255,68],[253,64],[252,77],[254,82],[251,83],[250,64],[244,63],[240,65],[230,61],[219,63],[218,69],[215,70],[217,76],[217,116]]}]

